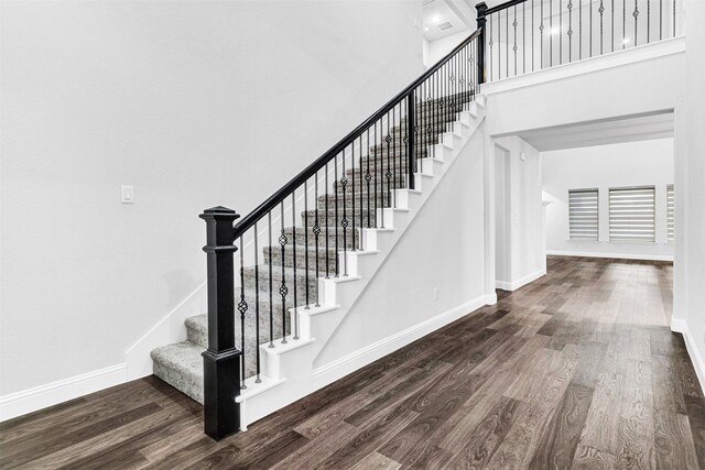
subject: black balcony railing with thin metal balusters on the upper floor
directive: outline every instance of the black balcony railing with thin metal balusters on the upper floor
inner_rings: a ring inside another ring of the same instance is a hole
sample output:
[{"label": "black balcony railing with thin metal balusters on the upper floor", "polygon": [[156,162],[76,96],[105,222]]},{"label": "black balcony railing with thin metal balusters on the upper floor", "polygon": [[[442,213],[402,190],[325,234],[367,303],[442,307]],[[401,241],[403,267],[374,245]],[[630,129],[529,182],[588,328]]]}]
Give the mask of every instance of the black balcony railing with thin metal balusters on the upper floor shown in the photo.
[{"label": "black balcony railing with thin metal balusters on the upper floor", "polygon": [[675,37],[682,0],[510,0],[478,3],[484,81]]}]

